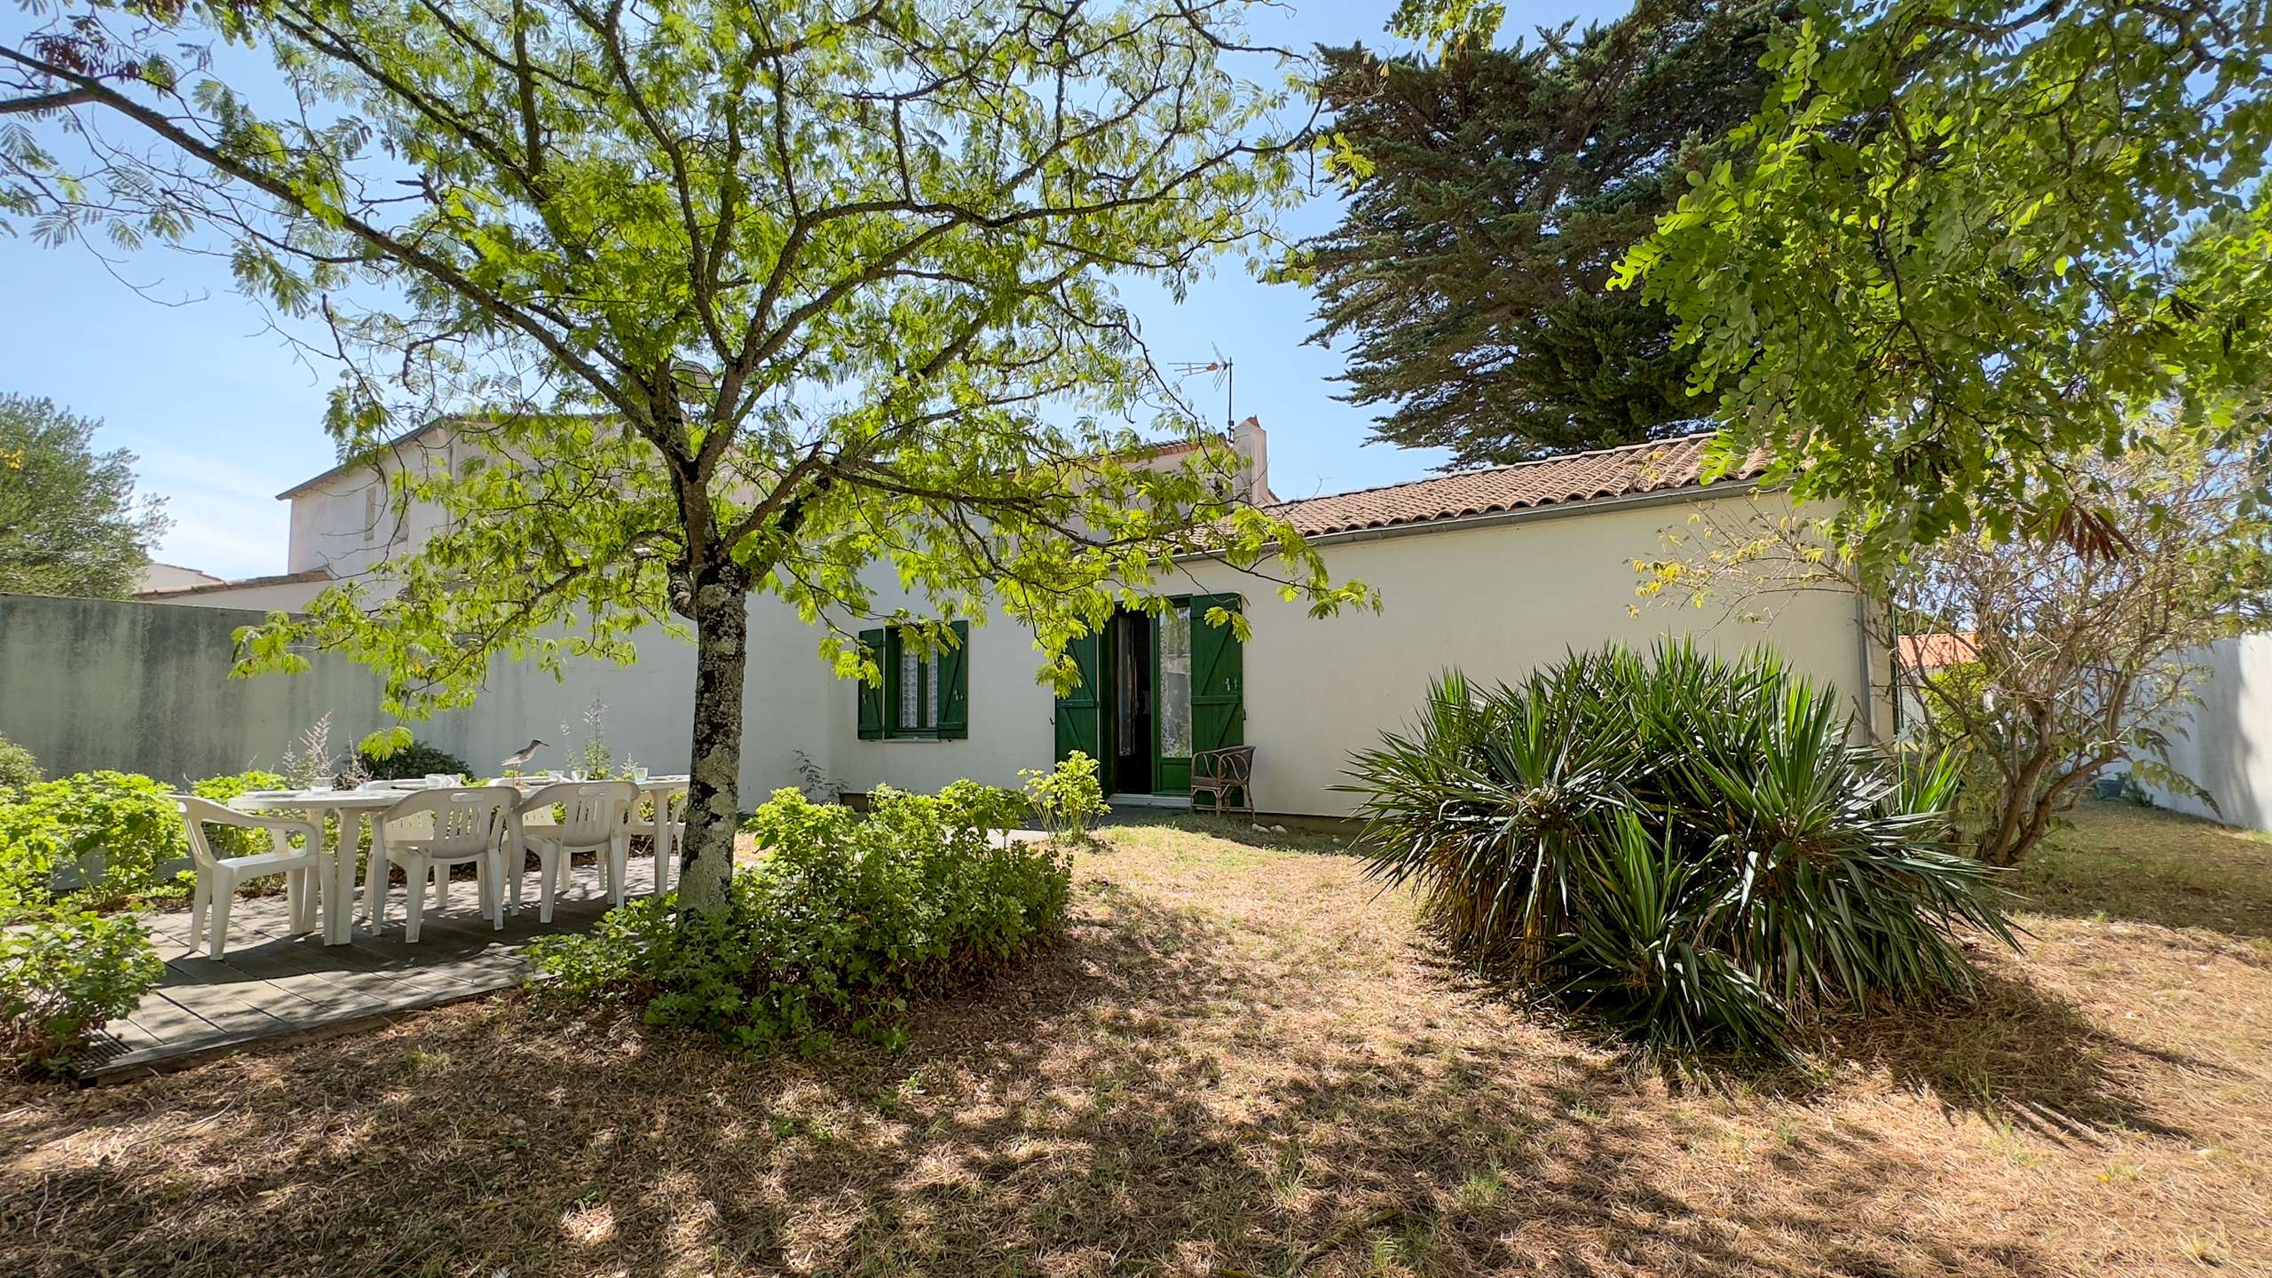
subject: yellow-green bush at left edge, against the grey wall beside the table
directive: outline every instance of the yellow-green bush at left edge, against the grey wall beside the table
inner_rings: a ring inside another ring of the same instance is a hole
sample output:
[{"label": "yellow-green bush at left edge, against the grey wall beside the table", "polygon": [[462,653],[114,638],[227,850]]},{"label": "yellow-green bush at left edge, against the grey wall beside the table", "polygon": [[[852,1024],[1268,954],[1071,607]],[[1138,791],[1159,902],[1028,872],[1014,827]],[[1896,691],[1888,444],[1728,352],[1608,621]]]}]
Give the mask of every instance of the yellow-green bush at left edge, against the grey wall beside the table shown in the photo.
[{"label": "yellow-green bush at left edge, against the grey wall beside the table", "polygon": [[109,907],[177,891],[159,866],[189,855],[168,789],[136,773],[73,773],[43,780],[0,805],[0,914],[48,901],[57,871],[66,901]]}]

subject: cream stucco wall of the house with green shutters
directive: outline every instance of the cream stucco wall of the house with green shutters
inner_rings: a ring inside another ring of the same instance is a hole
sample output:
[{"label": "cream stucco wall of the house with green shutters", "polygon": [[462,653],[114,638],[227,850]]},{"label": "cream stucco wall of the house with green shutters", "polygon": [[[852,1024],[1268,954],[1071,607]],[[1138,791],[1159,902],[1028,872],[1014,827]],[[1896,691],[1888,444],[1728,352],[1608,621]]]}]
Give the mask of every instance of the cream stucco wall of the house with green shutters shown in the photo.
[{"label": "cream stucco wall of the house with green shutters", "polygon": [[[1747,500],[1747,498],[1736,498]],[[1722,619],[1688,607],[1640,607],[1631,559],[1661,553],[1661,532],[1688,503],[1586,507],[1484,528],[1325,541],[1334,578],[1379,587],[1381,612],[1313,621],[1302,603],[1225,564],[1195,564],[1195,591],[1243,591],[1245,739],[1256,746],[1256,803],[1268,812],[1338,816],[1334,794],[1352,750],[1418,709],[1427,682],[1459,666],[1477,680],[1515,678],[1568,648],[1611,639],[1649,644],[1693,634],[1720,650],[1774,644],[1797,669],[1849,698],[1883,680],[1883,657],[1863,646],[1854,600],[1788,598],[1772,623]],[[1016,785],[1018,769],[1047,766],[1054,698],[1034,680],[1031,634],[995,619],[970,639],[970,737],[963,741],[861,741],[850,687],[827,698],[829,769],[852,791],[875,785],[936,789],[968,775]],[[1883,705],[1865,709],[1874,732]]]}]

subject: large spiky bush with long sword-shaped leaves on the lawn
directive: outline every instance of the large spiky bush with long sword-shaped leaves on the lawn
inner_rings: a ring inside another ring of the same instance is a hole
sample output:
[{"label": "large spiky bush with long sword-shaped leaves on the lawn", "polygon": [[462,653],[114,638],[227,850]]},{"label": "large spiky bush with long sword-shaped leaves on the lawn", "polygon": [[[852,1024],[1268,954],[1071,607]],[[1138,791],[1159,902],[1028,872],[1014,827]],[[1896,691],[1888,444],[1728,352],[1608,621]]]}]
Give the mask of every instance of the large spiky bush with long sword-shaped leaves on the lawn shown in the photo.
[{"label": "large spiky bush with long sword-shaped leaves on the lawn", "polygon": [[1649,1046],[1790,1053],[1824,1007],[1972,987],[1954,928],[2015,944],[1997,871],[1943,846],[1956,766],[1849,728],[1774,655],[1613,646],[1445,675],[1345,789],[1370,871],[1475,962]]}]

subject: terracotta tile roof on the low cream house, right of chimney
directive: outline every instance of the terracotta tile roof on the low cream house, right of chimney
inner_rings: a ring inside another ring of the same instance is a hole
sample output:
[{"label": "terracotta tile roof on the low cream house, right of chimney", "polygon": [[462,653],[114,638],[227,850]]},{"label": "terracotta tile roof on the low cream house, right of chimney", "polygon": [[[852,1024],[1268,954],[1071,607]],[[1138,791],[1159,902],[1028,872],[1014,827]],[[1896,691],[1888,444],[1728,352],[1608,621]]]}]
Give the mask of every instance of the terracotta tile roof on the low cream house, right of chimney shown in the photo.
[{"label": "terracotta tile roof on the low cream house, right of chimney", "polygon": [[[1320,537],[1686,489],[1699,482],[1706,443],[1711,443],[1709,432],[1684,434],[1354,493],[1327,493],[1279,503],[1268,512],[1290,521],[1304,537]],[[1768,457],[1754,453],[1738,471],[1722,475],[1722,482],[1756,480],[1765,466]]]}]

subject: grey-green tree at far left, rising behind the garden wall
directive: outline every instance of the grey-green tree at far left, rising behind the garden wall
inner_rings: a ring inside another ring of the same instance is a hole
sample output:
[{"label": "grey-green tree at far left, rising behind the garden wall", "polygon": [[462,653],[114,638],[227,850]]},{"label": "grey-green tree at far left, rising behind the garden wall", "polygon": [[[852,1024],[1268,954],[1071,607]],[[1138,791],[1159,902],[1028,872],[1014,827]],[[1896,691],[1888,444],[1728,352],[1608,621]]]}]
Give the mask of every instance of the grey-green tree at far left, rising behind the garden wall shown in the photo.
[{"label": "grey-green tree at far left, rising behind the garden wall", "polygon": [[95,418],[0,393],[0,591],[125,598],[166,532],[134,498],[134,455],[95,453]]}]

